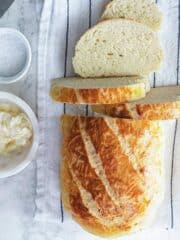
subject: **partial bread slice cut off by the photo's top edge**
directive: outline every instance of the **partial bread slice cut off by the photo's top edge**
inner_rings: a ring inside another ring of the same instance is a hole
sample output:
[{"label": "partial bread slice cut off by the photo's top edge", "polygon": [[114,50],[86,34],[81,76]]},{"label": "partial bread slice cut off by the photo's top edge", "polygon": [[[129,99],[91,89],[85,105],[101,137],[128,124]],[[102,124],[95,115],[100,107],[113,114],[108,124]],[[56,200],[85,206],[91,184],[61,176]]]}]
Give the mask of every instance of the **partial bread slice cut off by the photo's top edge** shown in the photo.
[{"label": "partial bread slice cut off by the photo's top edge", "polygon": [[157,31],[161,27],[162,13],[153,0],[113,0],[101,20],[125,18],[140,22]]}]

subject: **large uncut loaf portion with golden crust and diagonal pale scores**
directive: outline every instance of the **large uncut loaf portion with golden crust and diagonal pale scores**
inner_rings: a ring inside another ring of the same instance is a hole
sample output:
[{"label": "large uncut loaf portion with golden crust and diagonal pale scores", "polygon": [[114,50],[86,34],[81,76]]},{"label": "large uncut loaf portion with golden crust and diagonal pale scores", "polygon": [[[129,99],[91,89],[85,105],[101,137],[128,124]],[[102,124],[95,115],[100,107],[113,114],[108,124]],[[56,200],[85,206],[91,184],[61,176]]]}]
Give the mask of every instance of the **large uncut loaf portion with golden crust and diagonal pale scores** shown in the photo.
[{"label": "large uncut loaf portion with golden crust and diagonal pale scores", "polygon": [[62,117],[63,205],[104,237],[146,227],[163,198],[159,121]]}]

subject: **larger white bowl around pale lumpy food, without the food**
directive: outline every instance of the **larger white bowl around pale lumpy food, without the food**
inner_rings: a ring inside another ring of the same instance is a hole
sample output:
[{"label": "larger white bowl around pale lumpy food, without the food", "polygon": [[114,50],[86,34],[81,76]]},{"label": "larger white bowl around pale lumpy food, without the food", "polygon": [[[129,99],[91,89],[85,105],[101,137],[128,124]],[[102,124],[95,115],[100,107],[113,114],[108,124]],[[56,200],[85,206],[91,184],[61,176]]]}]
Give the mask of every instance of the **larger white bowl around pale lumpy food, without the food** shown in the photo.
[{"label": "larger white bowl around pale lumpy food, without the food", "polygon": [[31,108],[17,96],[0,92],[0,104],[8,103],[17,106],[26,114],[33,128],[32,144],[25,148],[20,154],[12,154],[11,156],[0,156],[0,178],[9,177],[21,172],[35,158],[39,145],[39,129],[38,121]]}]

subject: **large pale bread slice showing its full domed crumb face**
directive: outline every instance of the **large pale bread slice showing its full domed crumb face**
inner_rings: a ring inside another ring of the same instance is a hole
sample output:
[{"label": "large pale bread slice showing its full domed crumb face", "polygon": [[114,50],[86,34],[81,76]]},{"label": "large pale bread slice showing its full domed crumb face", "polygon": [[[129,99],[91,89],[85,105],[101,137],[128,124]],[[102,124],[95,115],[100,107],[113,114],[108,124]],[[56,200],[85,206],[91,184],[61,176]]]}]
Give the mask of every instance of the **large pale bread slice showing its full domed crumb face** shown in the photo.
[{"label": "large pale bread slice showing its full domed crumb face", "polygon": [[158,70],[162,61],[162,49],[150,28],[113,19],[100,22],[81,37],[73,66],[81,77],[139,76]]}]

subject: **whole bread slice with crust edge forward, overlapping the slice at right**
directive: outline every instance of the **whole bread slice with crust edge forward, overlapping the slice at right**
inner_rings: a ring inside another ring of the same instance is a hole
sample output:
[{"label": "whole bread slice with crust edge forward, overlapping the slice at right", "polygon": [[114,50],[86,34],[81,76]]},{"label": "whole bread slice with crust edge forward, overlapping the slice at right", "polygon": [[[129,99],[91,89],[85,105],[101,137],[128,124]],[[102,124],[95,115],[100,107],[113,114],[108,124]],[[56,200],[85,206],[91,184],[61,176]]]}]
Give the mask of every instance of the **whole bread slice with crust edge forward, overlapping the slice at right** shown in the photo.
[{"label": "whole bread slice with crust edge forward, overlapping the slice at right", "polygon": [[147,77],[61,78],[51,87],[55,101],[73,104],[112,104],[141,99],[150,91]]}]

